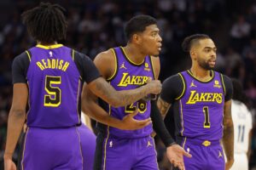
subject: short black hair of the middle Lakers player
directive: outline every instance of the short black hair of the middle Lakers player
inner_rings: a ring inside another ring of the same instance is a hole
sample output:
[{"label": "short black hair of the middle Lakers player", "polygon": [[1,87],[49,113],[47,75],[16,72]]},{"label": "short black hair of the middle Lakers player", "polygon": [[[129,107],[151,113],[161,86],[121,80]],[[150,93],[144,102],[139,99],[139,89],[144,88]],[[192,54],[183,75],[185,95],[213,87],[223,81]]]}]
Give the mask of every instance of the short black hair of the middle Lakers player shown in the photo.
[{"label": "short black hair of the middle Lakers player", "polygon": [[149,15],[140,14],[132,17],[125,25],[125,37],[130,40],[133,34],[143,32],[147,26],[156,25],[156,23],[157,20]]}]

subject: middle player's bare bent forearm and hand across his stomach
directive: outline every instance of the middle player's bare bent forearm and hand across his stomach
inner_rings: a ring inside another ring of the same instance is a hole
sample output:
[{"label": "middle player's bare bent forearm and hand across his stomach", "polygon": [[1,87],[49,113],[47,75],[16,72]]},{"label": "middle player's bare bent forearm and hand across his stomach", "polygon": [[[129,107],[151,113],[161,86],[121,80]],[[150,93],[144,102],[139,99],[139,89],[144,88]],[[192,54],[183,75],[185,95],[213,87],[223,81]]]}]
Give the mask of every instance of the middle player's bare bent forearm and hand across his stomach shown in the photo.
[{"label": "middle player's bare bent forearm and hand across his stomach", "polygon": [[151,123],[151,119],[148,118],[143,121],[137,121],[133,119],[133,116],[137,115],[137,112],[131,113],[124,117],[123,120],[118,120],[112,116],[109,116],[106,111],[97,105],[97,97],[93,94],[88,86],[84,85],[82,92],[82,111],[90,116],[90,118],[96,120],[97,122],[102,122],[111,127],[116,127],[123,130],[135,130],[148,126]]}]

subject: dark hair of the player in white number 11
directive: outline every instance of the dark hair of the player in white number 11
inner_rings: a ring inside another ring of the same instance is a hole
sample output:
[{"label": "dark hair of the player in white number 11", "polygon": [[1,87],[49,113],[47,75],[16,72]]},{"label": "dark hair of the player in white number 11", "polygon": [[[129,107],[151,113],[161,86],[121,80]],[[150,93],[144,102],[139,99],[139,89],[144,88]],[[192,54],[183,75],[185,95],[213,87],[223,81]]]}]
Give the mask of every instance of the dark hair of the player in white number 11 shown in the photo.
[{"label": "dark hair of the player in white number 11", "polygon": [[243,93],[241,82],[236,78],[231,78],[233,85],[233,98],[247,105],[247,96]]}]

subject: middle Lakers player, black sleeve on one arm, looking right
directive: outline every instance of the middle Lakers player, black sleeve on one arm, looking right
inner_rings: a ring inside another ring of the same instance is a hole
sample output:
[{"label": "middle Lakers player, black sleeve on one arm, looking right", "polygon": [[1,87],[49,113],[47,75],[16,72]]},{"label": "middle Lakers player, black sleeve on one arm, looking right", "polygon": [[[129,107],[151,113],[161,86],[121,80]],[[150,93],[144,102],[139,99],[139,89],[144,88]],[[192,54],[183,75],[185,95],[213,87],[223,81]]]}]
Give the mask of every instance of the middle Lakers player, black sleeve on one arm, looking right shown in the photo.
[{"label": "middle Lakers player, black sleeve on one arm, looking right", "polygon": [[[127,22],[125,35],[128,39],[125,47],[110,48],[96,56],[96,67],[116,90],[128,90],[143,86],[148,78],[157,79],[160,73],[161,37],[156,20],[148,15],[137,15]],[[106,65],[108,63],[108,65]],[[96,113],[96,97],[90,89],[84,87],[85,108]],[[150,96],[139,99],[131,105],[116,107],[100,100],[100,105],[109,115],[118,119],[138,110],[137,120],[152,118],[154,130],[166,144],[167,156],[175,166],[183,169],[183,155],[190,156],[182,147],[175,144],[161,119],[155,101]],[[152,111],[151,111],[152,110]],[[85,112],[85,111],[84,111]],[[93,116],[97,116],[94,114]],[[97,170],[156,170],[158,169],[152,125],[139,130],[124,131],[98,123],[99,133],[96,141]],[[118,160],[118,161],[117,161]]]}]

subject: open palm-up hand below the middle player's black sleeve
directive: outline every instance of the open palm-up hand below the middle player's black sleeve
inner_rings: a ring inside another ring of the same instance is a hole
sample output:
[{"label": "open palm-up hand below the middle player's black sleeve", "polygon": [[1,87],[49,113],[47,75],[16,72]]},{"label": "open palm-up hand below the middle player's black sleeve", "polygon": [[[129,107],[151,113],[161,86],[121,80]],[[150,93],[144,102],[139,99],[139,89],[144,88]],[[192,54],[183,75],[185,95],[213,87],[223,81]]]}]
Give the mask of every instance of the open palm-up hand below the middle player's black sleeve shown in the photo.
[{"label": "open palm-up hand below the middle player's black sleeve", "polygon": [[169,161],[171,161],[172,165],[178,167],[180,170],[185,170],[183,156],[192,157],[178,144],[172,144],[167,147],[166,156]]}]

